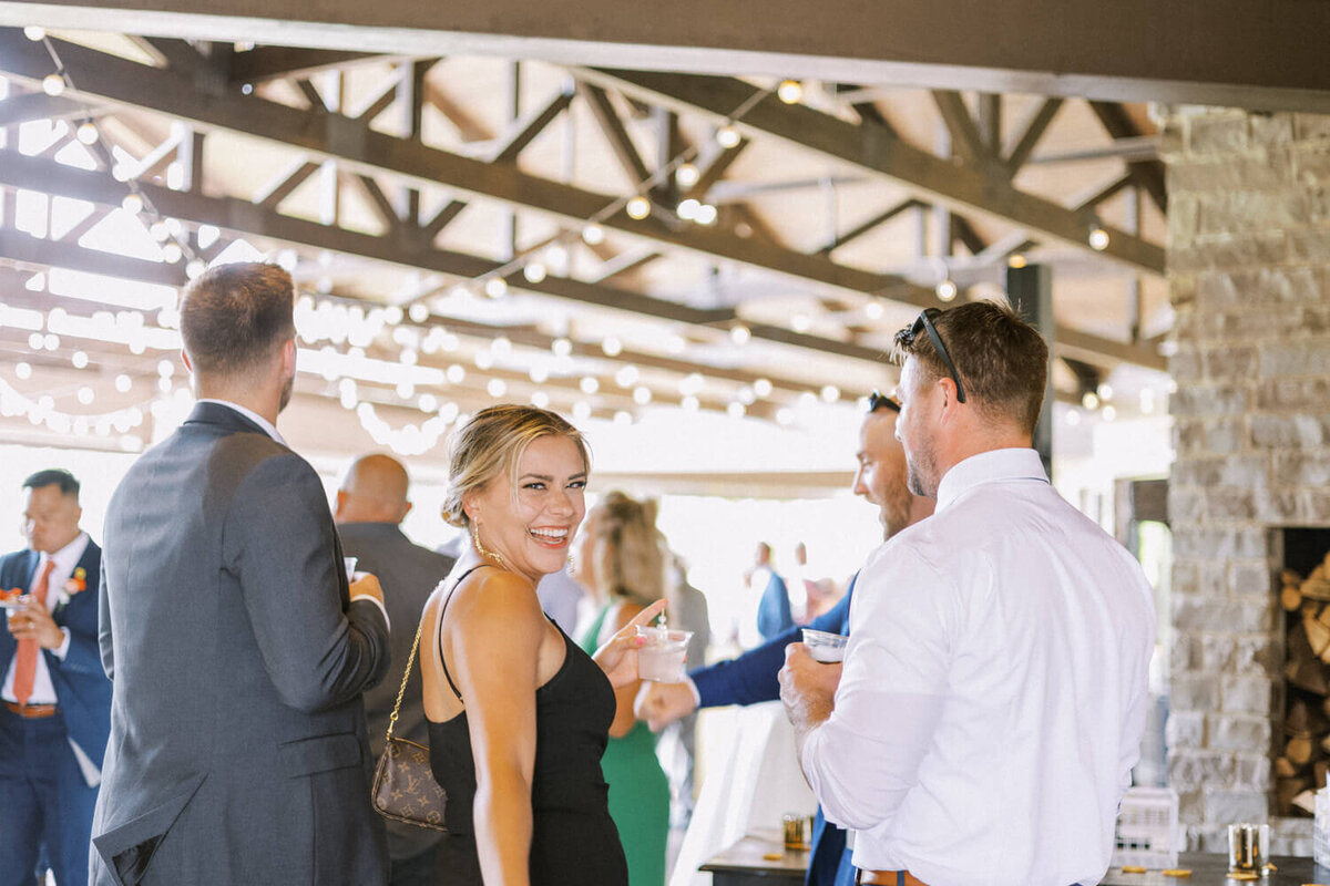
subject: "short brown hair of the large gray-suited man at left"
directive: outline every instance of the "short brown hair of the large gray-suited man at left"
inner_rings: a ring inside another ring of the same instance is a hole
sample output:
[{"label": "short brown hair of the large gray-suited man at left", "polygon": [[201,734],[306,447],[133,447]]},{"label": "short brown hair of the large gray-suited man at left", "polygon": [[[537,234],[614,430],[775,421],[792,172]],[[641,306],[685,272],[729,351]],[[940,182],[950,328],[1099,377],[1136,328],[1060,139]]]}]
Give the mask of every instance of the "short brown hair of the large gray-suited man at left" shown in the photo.
[{"label": "short brown hair of the large gray-suited man at left", "polygon": [[295,287],[277,264],[214,267],[185,287],[180,332],[194,369],[230,376],[261,365],[295,335]]}]

